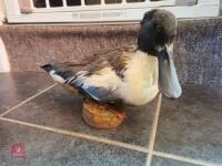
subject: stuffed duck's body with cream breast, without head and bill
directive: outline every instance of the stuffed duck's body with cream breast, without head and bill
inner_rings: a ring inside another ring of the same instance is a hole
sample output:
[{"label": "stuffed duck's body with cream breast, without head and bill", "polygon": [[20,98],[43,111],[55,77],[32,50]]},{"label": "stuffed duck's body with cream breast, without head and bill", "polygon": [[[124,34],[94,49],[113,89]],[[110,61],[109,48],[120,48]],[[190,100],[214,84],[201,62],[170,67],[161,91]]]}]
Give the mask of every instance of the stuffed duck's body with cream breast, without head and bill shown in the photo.
[{"label": "stuffed duck's body with cream breast, without head and bill", "polygon": [[137,46],[94,54],[77,71],[71,63],[46,64],[42,68],[56,82],[72,86],[99,102],[121,101],[130,105],[144,105],[159,92],[158,58],[148,55]]}]

